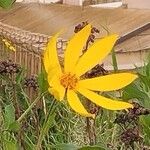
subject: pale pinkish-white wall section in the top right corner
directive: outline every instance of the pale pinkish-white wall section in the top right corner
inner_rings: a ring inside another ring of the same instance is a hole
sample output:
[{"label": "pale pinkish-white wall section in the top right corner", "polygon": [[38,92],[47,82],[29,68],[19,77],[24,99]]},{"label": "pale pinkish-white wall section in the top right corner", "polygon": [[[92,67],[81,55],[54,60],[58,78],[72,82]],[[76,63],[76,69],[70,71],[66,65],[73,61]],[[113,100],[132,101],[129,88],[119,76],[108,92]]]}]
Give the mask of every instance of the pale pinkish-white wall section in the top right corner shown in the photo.
[{"label": "pale pinkish-white wall section in the top right corner", "polygon": [[150,9],[150,0],[123,0],[128,8]]}]

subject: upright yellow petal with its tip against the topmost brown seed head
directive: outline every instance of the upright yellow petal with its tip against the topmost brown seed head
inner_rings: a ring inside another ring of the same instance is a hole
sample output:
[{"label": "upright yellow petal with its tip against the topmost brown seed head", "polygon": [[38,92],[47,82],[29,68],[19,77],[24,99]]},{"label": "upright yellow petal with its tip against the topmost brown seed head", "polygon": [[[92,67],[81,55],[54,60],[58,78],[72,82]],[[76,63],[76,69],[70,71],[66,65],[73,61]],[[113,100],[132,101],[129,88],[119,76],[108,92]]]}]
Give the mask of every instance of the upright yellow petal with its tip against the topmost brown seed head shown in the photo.
[{"label": "upright yellow petal with its tip against the topmost brown seed head", "polygon": [[91,25],[85,26],[81,31],[76,33],[72,39],[69,41],[64,60],[64,70],[65,72],[72,72],[74,69],[79,56],[86,45],[86,41],[91,32]]}]

